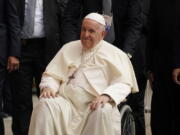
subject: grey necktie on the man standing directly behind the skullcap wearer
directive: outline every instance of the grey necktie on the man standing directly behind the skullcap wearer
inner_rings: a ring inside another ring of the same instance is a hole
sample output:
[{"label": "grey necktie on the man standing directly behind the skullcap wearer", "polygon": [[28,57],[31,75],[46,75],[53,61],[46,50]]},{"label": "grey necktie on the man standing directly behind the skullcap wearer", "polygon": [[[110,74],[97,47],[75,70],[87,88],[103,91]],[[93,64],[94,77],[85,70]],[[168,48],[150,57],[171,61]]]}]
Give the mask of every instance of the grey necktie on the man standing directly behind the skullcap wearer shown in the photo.
[{"label": "grey necktie on the man standing directly behind the skullcap wearer", "polygon": [[[113,17],[112,0],[103,0],[102,4],[103,4],[102,6],[103,14]],[[114,23],[113,23],[113,18],[112,18],[111,27],[108,30],[104,40],[108,41],[109,43],[113,43],[114,39],[115,39],[115,33],[114,33]]]}]

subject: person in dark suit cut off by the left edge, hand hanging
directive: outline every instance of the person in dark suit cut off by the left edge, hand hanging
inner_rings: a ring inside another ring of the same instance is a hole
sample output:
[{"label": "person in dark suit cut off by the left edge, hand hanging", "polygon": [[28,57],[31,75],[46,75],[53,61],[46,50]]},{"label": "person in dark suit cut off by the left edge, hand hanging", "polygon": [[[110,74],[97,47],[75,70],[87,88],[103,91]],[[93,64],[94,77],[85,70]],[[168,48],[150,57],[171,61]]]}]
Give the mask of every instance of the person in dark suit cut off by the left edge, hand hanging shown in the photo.
[{"label": "person in dark suit cut off by the left edge, hand hanging", "polygon": [[0,134],[4,135],[2,116],[3,90],[7,71],[19,68],[20,39],[19,20],[15,0],[0,1]]}]

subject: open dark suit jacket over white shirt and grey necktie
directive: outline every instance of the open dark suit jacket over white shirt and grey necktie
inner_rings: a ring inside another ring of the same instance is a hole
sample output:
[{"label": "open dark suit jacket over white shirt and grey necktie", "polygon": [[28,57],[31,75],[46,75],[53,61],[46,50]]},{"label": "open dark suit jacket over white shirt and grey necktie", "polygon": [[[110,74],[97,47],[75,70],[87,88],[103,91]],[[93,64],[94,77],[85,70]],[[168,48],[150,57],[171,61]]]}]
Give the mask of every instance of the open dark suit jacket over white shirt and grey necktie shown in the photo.
[{"label": "open dark suit jacket over white shirt and grey necktie", "polygon": [[[60,25],[61,25],[61,0],[43,0],[43,18],[46,34],[45,61],[46,64],[54,57],[61,48]],[[24,23],[25,0],[17,0],[19,20],[21,27]]]}]

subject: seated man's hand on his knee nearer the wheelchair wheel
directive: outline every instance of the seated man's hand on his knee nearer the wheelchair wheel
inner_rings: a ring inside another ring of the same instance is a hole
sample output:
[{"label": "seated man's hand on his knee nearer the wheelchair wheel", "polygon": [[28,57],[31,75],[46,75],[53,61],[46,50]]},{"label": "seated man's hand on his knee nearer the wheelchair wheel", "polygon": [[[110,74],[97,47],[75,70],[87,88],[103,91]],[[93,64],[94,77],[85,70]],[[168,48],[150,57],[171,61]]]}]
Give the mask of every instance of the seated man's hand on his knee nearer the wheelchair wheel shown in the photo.
[{"label": "seated man's hand on his knee nearer the wheelchair wheel", "polygon": [[110,102],[111,98],[108,95],[101,95],[97,98],[95,98],[91,104],[90,109],[92,111],[96,110],[100,105],[103,107],[105,103]]}]

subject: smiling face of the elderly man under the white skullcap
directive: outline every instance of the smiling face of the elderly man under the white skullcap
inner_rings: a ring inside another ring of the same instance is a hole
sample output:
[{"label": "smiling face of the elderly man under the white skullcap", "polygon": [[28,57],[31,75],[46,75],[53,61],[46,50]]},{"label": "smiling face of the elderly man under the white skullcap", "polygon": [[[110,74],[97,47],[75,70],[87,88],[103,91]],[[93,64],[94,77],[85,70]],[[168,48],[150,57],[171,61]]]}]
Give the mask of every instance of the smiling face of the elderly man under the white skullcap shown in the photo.
[{"label": "smiling face of the elderly man under the white skullcap", "polygon": [[81,43],[84,49],[91,49],[104,38],[103,26],[91,19],[84,19],[81,27]]}]

